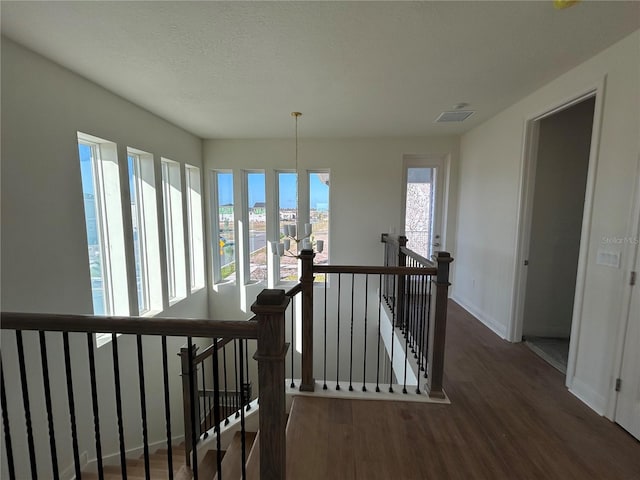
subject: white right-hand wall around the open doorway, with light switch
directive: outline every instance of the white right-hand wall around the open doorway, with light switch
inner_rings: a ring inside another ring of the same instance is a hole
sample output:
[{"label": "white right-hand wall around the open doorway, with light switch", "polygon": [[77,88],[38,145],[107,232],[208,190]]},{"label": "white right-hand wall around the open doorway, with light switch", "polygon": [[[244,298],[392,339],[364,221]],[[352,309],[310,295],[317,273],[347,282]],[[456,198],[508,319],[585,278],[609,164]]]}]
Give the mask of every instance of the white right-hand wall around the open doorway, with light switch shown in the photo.
[{"label": "white right-hand wall around the open doorway, with light switch", "polygon": [[[606,76],[585,296],[571,391],[603,412],[613,385],[615,339],[628,272],[596,265],[606,239],[629,236],[640,132],[636,31],[463,135],[453,297],[501,336],[510,333],[524,126]],[[629,245],[618,244],[623,262]]]}]

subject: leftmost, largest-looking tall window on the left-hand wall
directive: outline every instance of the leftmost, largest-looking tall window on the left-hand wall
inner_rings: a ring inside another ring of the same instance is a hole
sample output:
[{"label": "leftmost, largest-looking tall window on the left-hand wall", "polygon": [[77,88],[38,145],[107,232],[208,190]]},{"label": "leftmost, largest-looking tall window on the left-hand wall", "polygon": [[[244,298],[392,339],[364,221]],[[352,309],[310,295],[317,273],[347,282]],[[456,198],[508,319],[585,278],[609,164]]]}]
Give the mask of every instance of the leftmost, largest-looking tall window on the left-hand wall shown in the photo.
[{"label": "leftmost, largest-looking tall window on the left-hand wall", "polygon": [[112,142],[78,132],[78,154],[93,313],[129,315],[117,148]]}]

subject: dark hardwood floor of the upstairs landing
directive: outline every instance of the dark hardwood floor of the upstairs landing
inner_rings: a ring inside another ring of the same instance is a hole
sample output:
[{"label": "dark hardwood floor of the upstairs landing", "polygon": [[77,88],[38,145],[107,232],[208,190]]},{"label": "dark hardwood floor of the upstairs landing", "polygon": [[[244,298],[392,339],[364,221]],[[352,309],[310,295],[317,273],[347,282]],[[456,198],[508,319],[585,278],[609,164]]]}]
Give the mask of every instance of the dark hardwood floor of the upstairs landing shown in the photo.
[{"label": "dark hardwood floor of the upstairs landing", "polygon": [[640,479],[640,442],[564,377],[450,304],[451,405],[296,397],[287,478]]}]

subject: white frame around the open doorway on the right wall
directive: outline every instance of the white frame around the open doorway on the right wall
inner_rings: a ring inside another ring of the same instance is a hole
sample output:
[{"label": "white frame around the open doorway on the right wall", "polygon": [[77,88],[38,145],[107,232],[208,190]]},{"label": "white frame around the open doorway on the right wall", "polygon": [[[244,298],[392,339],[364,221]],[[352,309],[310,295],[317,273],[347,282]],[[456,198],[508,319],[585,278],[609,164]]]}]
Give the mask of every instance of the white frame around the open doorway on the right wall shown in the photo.
[{"label": "white frame around the open doorway on the right wall", "polygon": [[591,233],[593,199],[595,195],[598,154],[600,151],[605,86],[606,76],[603,76],[595,85],[578,91],[571,97],[561,99],[541,112],[531,115],[525,119],[524,125],[524,142],[522,149],[522,161],[520,165],[518,216],[516,219],[517,238],[514,257],[513,298],[511,301],[511,321],[509,322],[509,328],[507,331],[507,337],[512,342],[520,342],[522,340],[524,302],[527,288],[527,269],[524,265],[524,261],[529,255],[540,120],[572,107],[573,105],[588,98],[595,98],[591,146],[589,150],[589,165],[587,167],[587,184],[584,199],[584,210],[582,214],[582,230],[580,234],[580,251],[578,254],[576,288],[573,302],[573,315],[571,318],[569,358],[565,378],[565,385],[568,388],[571,388],[573,384],[578,355],[580,326],[584,304],[587,257],[589,252],[589,236]]}]

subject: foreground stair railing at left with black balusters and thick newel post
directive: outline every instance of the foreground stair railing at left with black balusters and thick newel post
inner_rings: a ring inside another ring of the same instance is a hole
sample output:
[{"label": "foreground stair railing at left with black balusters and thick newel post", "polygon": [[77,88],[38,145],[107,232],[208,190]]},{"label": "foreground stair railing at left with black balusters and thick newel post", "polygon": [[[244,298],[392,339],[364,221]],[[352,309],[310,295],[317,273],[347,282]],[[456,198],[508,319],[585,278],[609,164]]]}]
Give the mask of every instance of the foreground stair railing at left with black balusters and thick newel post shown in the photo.
[{"label": "foreground stair railing at left with black balusters and thick newel post", "polygon": [[[0,321],[3,331],[3,350],[0,361],[0,383],[2,384],[1,406],[5,437],[3,443],[9,478],[37,479],[40,476],[41,478],[58,479],[68,475],[81,479],[83,465],[79,446],[89,450],[87,444],[89,439],[81,438],[79,435],[81,423],[93,425],[97,472],[99,478],[104,478],[105,471],[110,471],[112,467],[103,465],[102,446],[106,439],[103,438],[105,432],[101,432],[101,427],[103,427],[102,430],[108,430],[108,428],[105,428],[107,425],[104,425],[104,419],[100,418],[100,412],[105,408],[105,404],[111,405],[113,397],[115,397],[116,404],[120,468],[123,478],[126,478],[125,455],[127,449],[125,439],[131,442],[132,435],[135,436],[136,433],[126,431],[127,425],[123,420],[123,403],[125,400],[131,400],[131,395],[127,395],[131,392],[122,391],[124,383],[121,378],[125,374],[130,376],[128,370],[131,370],[132,367],[137,367],[138,370],[143,458],[145,472],[149,478],[151,471],[149,430],[155,425],[148,424],[147,412],[151,402],[148,401],[146,385],[152,381],[149,372],[155,371],[150,364],[156,362],[162,363],[161,373],[159,373],[162,380],[159,383],[162,384],[164,390],[164,405],[162,405],[161,398],[154,398],[153,402],[156,407],[164,407],[166,420],[164,441],[168,449],[167,469],[169,478],[173,478],[174,466],[172,465],[171,446],[174,438],[169,392],[169,364],[171,362],[167,352],[167,340],[171,339],[172,342],[175,342],[177,339],[174,337],[181,337],[187,339],[187,351],[189,352],[187,357],[191,357],[188,358],[190,365],[194,364],[195,338],[213,338],[214,343],[217,343],[218,338],[255,339],[257,341],[254,358],[258,362],[261,409],[259,419],[262,439],[260,441],[260,478],[284,479],[286,465],[284,361],[287,351],[284,340],[284,312],[288,303],[289,298],[283,290],[265,290],[258,295],[252,306],[252,311],[255,314],[252,321],[2,312]],[[32,332],[37,332],[37,334]],[[112,335],[110,344],[100,347],[111,350],[109,352],[111,353],[109,356],[112,358],[110,366],[105,351],[99,352],[101,363],[96,362],[96,353],[98,353],[94,340],[96,333],[110,333]],[[133,337],[129,337],[129,335],[133,335]],[[122,364],[124,347],[130,345],[134,345],[136,352],[134,357],[137,356],[137,365]],[[120,351],[118,346],[121,347]],[[113,386],[103,384],[102,380],[104,379],[98,378],[96,365],[101,368],[102,372],[106,371],[105,367],[111,371],[113,376],[110,374],[109,378],[113,379]],[[195,391],[195,372],[193,368],[189,370],[191,370],[188,374],[189,391],[185,396],[186,399],[193,398],[192,392]],[[90,383],[86,389],[83,388],[83,385],[78,385],[78,379],[85,377],[88,377]],[[52,383],[52,379],[53,382],[60,384]],[[87,389],[90,389],[90,399],[84,396],[79,398],[78,395]],[[44,402],[42,402],[44,408],[40,407],[42,401],[40,392],[44,393]],[[105,398],[107,395],[113,397]],[[85,402],[88,402],[91,412],[89,415],[92,414],[91,419],[82,417],[85,408],[78,404]],[[62,405],[68,414],[66,422],[64,416],[60,416]],[[196,424],[195,405],[193,407],[190,408],[191,425]],[[45,432],[36,431],[43,411],[47,418],[45,430],[48,430],[48,445],[40,442],[38,438],[42,438],[42,434]],[[20,417],[22,417],[22,421]],[[65,423],[67,426],[63,426]],[[60,432],[57,429],[63,429],[66,432]],[[196,430],[192,429],[189,436],[191,437],[191,445],[196,445]],[[111,442],[113,439],[108,440]],[[72,465],[63,465],[59,461],[60,459],[66,460],[67,452],[73,452],[70,454],[73,457]],[[197,448],[192,448],[191,454],[191,469],[188,474],[197,479]]]}]

